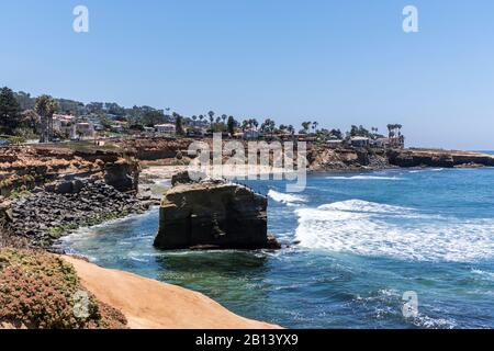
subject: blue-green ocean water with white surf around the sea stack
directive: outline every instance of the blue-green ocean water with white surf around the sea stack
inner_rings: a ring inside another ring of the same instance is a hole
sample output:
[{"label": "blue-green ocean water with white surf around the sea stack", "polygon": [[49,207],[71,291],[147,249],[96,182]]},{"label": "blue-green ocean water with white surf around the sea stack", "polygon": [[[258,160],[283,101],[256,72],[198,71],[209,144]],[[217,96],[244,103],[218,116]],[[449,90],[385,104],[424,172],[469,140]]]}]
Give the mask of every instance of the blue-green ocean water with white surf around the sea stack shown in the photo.
[{"label": "blue-green ocean water with white surf around the sea stack", "polygon": [[[493,328],[494,169],[311,174],[269,195],[272,251],[161,252],[158,210],[81,229],[64,246],[96,263],[178,284],[291,328]],[[403,294],[418,315],[402,313]]]}]

